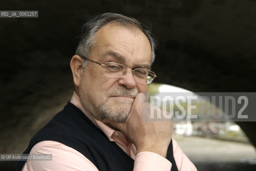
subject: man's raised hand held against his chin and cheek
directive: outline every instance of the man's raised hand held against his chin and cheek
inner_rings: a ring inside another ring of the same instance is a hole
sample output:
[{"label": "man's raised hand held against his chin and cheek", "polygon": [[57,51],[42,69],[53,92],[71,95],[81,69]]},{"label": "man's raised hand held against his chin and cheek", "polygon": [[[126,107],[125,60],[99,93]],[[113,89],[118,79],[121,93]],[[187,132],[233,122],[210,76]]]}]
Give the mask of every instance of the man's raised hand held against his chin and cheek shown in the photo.
[{"label": "man's raised hand held against his chin and cheek", "polygon": [[[150,151],[165,158],[172,137],[173,122],[172,120],[144,121],[142,116],[150,115],[150,108],[151,110],[154,108],[150,103],[145,102],[145,99],[142,93],[135,97],[125,123],[117,123],[108,119],[103,119],[103,122],[122,131],[135,145],[137,153]],[[160,108],[158,111],[165,112]]]}]

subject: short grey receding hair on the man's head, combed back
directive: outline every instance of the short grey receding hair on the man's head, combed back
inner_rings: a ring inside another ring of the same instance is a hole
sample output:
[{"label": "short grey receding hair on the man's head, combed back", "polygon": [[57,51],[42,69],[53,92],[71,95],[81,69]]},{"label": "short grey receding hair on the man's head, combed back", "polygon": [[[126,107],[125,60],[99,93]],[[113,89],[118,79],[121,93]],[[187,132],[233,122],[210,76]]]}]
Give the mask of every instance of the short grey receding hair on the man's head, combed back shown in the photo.
[{"label": "short grey receding hair on the man's head, combed back", "polygon": [[[77,46],[76,54],[80,57],[88,58],[89,53],[91,52],[91,49],[93,48],[93,45],[95,43],[94,39],[96,33],[103,26],[115,23],[122,24],[123,26],[130,28],[137,28],[147,36],[152,51],[152,64],[155,60],[156,41],[151,31],[146,26],[142,25],[138,20],[116,13],[103,13],[97,15],[88,22],[86,22],[84,26],[82,26],[80,42]],[[86,66],[86,60],[84,62],[84,66]]]}]

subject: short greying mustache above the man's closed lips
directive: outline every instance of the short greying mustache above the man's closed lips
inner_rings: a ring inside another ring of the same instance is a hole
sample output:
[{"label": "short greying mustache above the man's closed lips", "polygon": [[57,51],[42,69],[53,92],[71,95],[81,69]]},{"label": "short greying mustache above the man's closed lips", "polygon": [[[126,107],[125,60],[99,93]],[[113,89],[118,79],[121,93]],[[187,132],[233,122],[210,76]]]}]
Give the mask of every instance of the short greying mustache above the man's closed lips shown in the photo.
[{"label": "short greying mustache above the man's closed lips", "polygon": [[107,93],[107,97],[110,96],[129,96],[131,98],[135,98],[138,95],[139,91],[136,89],[125,89],[125,88],[118,88],[112,89]]}]

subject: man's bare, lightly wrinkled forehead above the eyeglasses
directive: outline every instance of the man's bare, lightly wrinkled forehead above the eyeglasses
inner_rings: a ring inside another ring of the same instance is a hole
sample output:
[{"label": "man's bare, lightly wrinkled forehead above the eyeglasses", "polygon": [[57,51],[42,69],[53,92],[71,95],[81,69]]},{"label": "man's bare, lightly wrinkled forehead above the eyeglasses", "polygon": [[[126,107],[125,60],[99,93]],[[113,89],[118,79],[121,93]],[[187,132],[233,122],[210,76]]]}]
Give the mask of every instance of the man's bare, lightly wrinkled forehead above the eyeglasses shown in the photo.
[{"label": "man's bare, lightly wrinkled forehead above the eyeglasses", "polygon": [[91,51],[99,60],[105,57],[123,57],[125,63],[150,65],[152,51],[148,38],[141,30],[121,24],[103,26],[95,35]]}]

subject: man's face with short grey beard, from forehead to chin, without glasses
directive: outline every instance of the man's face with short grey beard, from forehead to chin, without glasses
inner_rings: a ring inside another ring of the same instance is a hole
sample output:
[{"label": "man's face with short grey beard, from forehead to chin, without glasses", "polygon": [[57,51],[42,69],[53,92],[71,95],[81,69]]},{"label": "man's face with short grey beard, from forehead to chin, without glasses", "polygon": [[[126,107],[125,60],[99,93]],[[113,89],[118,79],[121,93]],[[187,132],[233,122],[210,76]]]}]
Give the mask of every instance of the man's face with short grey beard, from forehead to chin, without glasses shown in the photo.
[{"label": "man's face with short grey beard, from forehead to chin, without glasses", "polygon": [[[129,69],[149,69],[152,53],[144,33],[121,25],[106,25],[95,36],[89,59],[105,64],[115,62]],[[138,92],[147,92],[147,84],[134,81],[130,70],[119,78],[104,75],[102,66],[88,61],[82,71],[79,96],[82,105],[96,119],[125,122]]]}]

